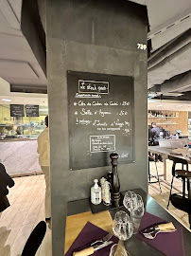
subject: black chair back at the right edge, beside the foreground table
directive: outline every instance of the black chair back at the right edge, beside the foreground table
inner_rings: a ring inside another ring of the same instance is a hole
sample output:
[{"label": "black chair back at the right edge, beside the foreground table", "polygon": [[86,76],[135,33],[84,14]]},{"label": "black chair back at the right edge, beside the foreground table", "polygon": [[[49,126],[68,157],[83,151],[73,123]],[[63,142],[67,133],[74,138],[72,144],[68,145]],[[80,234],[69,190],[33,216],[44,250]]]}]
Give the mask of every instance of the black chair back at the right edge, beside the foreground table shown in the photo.
[{"label": "black chair back at the right edge, beside the foreground table", "polygon": [[191,229],[191,199],[185,198],[179,194],[173,193],[170,196],[170,201],[174,207],[188,213],[188,220]]}]

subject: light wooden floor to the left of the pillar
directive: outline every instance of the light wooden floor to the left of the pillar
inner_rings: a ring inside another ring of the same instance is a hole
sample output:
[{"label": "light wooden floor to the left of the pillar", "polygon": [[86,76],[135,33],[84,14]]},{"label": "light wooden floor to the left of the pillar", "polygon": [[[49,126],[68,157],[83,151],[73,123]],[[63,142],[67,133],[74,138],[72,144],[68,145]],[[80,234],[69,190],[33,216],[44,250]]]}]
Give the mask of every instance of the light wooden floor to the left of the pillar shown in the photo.
[{"label": "light wooden floor to the left of the pillar", "polygon": [[[20,256],[32,229],[44,220],[43,175],[14,178],[9,190],[10,207],[0,216],[0,256]],[[47,226],[37,256],[51,256],[51,229]]]}]

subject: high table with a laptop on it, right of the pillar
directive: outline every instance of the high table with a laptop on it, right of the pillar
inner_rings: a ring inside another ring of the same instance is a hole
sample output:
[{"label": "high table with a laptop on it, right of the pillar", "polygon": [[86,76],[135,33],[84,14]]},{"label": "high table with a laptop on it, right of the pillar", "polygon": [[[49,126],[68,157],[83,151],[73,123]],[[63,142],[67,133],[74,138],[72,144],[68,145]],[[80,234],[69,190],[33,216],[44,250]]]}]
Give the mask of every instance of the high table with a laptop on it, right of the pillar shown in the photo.
[{"label": "high table with a laptop on it, right of the pillar", "polygon": [[[168,155],[171,155],[171,153],[173,153],[173,150],[169,149],[169,148],[163,148],[160,146],[148,146],[148,152],[163,156],[163,158],[164,158],[164,174],[160,174],[160,176],[163,175],[164,179],[166,180],[166,159],[168,159]],[[182,158],[182,159],[186,160],[189,164],[191,163],[191,159],[189,157],[186,157],[183,155],[173,155],[173,156]]]}]

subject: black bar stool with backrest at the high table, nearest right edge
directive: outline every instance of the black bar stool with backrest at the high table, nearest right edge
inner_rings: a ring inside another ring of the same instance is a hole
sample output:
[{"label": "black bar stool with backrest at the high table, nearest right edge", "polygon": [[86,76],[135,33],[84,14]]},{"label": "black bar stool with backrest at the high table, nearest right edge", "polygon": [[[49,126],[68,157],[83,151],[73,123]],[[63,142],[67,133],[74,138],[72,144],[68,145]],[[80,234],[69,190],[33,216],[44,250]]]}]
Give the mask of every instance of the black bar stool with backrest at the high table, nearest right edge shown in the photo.
[{"label": "black bar stool with backrest at the high table, nearest right edge", "polygon": [[[168,156],[169,160],[173,161],[172,164],[172,180],[171,180],[171,186],[170,186],[170,194],[169,194],[169,199],[168,199],[168,203],[167,203],[167,209],[169,207],[169,203],[170,203],[170,196],[172,193],[172,185],[173,185],[173,181],[174,181],[174,177],[182,179],[182,195],[183,197],[185,197],[185,179],[189,178],[189,176],[191,177],[191,172],[188,171],[188,163],[186,160],[179,158],[179,157],[175,157],[172,155]],[[178,163],[182,163],[182,169],[180,170],[176,170],[176,164]],[[184,170],[184,165],[186,167],[186,170]]]}]

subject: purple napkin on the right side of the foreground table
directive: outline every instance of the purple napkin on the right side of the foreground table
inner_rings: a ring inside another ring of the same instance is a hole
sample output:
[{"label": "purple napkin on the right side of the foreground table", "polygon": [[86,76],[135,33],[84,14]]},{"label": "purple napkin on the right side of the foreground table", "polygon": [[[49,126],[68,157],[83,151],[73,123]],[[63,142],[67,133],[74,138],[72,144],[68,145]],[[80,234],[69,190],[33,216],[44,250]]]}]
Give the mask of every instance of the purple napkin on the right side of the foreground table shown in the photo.
[{"label": "purple napkin on the right side of the foreground table", "polygon": [[145,212],[136,237],[146,242],[150,247],[154,247],[160,250],[166,256],[183,256],[184,251],[181,225],[176,224],[175,228],[177,230],[174,232],[158,233],[154,239],[148,239],[141,233],[141,231],[149,227],[163,223],[166,223],[166,221],[155,215]]}]

